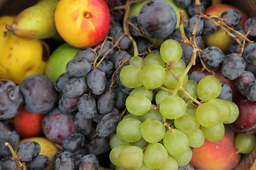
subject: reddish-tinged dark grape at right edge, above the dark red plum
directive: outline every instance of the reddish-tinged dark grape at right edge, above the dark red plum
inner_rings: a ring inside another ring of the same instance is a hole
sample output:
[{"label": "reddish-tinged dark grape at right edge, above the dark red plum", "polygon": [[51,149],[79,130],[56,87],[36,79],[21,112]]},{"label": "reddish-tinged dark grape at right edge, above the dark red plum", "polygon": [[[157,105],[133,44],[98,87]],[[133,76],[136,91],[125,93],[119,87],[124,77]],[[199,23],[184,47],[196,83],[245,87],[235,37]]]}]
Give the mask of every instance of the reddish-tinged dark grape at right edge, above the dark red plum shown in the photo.
[{"label": "reddish-tinged dark grape at right edge, above the dark red plum", "polygon": [[235,79],[235,85],[242,96],[247,95],[247,86],[255,81],[255,75],[250,71],[243,72],[238,79]]}]

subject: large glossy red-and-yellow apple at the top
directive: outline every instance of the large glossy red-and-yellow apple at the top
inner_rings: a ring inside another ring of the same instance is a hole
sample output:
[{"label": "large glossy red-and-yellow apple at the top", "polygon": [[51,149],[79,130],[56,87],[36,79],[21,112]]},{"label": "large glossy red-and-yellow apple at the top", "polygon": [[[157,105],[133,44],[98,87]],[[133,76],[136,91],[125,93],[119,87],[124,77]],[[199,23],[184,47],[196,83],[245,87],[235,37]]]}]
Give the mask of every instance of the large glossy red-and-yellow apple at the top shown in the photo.
[{"label": "large glossy red-and-yellow apple at the top", "polygon": [[104,0],[61,0],[55,10],[60,36],[75,47],[92,47],[106,37],[110,10]]}]

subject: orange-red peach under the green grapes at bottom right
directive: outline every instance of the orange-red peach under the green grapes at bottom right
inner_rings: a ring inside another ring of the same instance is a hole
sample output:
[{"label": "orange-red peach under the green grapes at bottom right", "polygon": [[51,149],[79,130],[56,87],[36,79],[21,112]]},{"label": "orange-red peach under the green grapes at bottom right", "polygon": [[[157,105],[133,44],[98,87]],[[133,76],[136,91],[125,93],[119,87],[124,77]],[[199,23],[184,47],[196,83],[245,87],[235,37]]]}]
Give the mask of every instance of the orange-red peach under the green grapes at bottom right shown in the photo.
[{"label": "orange-red peach under the green grapes at bottom right", "polygon": [[235,132],[225,125],[225,135],[218,142],[206,140],[201,147],[192,149],[190,164],[201,170],[231,170],[238,165],[241,154],[234,145]]}]

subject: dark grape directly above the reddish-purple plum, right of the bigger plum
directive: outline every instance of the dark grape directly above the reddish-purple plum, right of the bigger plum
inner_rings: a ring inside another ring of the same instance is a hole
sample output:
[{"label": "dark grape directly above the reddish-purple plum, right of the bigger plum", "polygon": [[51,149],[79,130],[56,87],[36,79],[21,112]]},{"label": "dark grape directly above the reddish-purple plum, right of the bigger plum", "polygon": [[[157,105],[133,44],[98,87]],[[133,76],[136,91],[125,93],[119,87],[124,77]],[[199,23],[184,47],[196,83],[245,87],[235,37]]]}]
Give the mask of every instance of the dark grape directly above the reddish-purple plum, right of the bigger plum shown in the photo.
[{"label": "dark grape directly above the reddish-purple plum, right of the bigger plum", "polygon": [[78,110],[79,96],[75,98],[69,98],[63,94],[58,101],[58,108],[62,113],[73,113]]}]

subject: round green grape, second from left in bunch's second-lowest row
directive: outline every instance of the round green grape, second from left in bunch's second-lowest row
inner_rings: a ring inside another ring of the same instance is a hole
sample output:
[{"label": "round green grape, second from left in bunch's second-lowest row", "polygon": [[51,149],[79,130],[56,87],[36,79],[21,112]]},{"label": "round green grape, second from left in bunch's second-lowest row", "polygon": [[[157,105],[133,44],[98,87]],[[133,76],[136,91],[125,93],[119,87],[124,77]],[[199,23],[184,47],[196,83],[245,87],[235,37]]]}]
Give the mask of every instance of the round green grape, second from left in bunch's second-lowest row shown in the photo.
[{"label": "round green grape, second from left in bunch's second-lowest row", "polygon": [[146,142],[156,143],[163,139],[165,127],[159,120],[149,118],[142,123],[141,132]]}]

